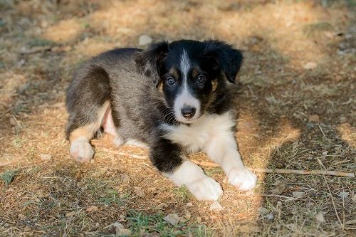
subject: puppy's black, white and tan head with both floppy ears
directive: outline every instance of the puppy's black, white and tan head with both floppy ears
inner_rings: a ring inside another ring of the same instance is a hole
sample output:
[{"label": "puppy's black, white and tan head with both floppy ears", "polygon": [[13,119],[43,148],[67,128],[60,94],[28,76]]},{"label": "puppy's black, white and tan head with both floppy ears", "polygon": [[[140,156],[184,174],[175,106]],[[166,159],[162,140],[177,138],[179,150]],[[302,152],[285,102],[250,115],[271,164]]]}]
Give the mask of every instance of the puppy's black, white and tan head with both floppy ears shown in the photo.
[{"label": "puppy's black, white and tan head with both floppy ears", "polygon": [[175,120],[192,123],[209,112],[226,80],[234,83],[243,56],[221,41],[154,43],[137,53],[140,73],[152,78],[174,112]]}]

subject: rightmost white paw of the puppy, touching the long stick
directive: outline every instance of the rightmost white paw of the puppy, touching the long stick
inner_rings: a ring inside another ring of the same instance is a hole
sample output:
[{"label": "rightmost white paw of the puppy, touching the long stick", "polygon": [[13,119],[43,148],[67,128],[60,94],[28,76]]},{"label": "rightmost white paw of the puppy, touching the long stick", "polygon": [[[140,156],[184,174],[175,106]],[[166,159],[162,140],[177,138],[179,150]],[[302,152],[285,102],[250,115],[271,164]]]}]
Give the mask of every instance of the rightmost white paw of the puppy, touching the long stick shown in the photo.
[{"label": "rightmost white paw of the puppy, touching the long stick", "polygon": [[256,187],[257,177],[251,171],[242,168],[235,168],[229,172],[228,181],[241,191],[249,191]]}]

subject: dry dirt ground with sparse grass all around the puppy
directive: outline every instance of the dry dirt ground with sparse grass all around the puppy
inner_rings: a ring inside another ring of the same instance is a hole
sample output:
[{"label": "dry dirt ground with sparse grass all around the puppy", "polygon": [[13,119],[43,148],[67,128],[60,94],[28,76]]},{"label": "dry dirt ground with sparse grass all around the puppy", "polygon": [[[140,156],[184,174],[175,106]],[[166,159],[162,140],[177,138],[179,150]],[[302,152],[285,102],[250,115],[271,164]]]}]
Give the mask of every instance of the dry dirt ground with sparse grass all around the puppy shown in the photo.
[{"label": "dry dirt ground with sparse grass all around the puppy", "polygon": [[[138,47],[144,33],[219,38],[246,58],[233,88],[245,164],[355,174],[355,6],[0,0],[0,236],[356,236],[355,178],[258,173],[244,194],[202,166],[223,186],[219,206],[110,137],[93,141],[92,163],[78,164],[63,132],[70,75],[90,56]],[[169,214],[179,223],[164,221]]]}]

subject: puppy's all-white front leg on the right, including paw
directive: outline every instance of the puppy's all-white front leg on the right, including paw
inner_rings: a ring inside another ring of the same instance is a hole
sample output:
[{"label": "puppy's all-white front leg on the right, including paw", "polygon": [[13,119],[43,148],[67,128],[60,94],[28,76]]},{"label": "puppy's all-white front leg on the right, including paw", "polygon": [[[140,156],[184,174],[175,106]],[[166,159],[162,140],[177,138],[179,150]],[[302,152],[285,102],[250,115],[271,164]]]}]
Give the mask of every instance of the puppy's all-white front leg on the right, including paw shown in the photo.
[{"label": "puppy's all-white front leg on the right, including paw", "polygon": [[204,147],[204,152],[210,159],[220,164],[230,184],[241,191],[256,187],[257,177],[244,167],[232,132],[221,132],[220,135],[210,139]]}]

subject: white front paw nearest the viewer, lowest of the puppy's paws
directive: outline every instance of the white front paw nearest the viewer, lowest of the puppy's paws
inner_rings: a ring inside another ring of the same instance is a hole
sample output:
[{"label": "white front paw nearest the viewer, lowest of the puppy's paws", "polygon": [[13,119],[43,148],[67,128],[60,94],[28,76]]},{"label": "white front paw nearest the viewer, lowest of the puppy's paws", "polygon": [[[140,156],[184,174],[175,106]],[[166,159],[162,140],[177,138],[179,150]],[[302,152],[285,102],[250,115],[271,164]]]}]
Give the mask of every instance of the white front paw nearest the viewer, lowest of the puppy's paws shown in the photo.
[{"label": "white front paw nearest the viewer, lowest of the puppy's paws", "polygon": [[204,177],[186,186],[198,200],[216,201],[223,194],[220,184],[210,177]]}]

